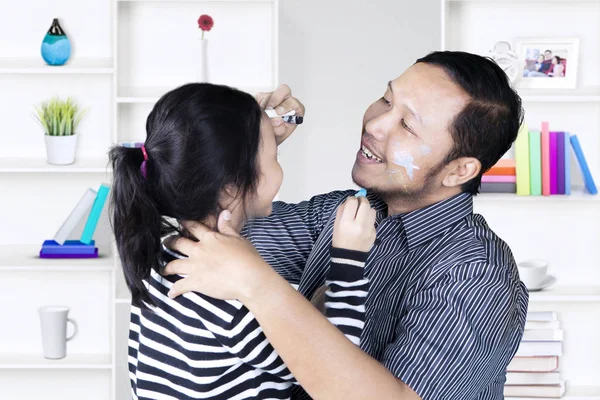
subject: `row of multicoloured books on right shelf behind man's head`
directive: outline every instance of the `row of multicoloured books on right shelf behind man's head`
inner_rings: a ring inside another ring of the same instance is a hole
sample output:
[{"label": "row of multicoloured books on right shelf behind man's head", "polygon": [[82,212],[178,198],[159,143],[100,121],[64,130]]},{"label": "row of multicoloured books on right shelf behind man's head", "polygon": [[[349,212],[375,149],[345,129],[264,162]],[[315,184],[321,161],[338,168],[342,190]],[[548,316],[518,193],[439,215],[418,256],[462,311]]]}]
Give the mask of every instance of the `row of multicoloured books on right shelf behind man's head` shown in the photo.
[{"label": "row of multicoloured books on right shelf behind man's head", "polygon": [[[548,122],[542,122],[541,131],[530,131],[527,124],[521,126],[515,142],[515,159],[502,159],[485,173],[481,179],[480,191],[516,193],[521,196],[569,195],[571,149],[579,163],[585,188],[590,194],[597,194],[596,183],[577,135],[550,131]],[[496,167],[502,169],[513,165],[514,174],[497,176],[499,173],[494,172]]]}]

